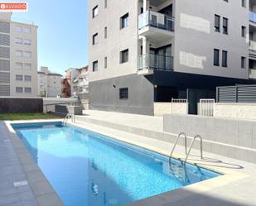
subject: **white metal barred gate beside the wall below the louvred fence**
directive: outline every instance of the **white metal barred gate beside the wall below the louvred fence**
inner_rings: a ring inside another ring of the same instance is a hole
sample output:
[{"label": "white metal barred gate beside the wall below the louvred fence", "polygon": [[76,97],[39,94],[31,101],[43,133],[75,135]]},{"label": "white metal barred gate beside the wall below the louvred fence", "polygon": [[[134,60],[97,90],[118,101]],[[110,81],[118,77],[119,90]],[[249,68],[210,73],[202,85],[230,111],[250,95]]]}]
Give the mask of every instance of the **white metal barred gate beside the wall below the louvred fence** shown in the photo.
[{"label": "white metal barred gate beside the wall below the louvred fence", "polygon": [[215,99],[200,99],[199,115],[213,117],[215,112]]}]

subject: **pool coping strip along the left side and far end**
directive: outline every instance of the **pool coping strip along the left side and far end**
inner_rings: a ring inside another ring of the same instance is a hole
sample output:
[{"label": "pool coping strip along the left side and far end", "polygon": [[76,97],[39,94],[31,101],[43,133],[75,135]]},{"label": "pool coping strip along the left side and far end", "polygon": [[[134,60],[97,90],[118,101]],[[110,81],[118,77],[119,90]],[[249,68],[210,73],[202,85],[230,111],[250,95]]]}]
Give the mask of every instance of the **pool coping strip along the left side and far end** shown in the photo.
[{"label": "pool coping strip along the left side and far end", "polygon": [[26,146],[17,136],[12,128],[13,123],[31,123],[31,122],[61,122],[59,119],[52,120],[35,120],[35,121],[3,121],[6,127],[7,136],[12,142],[14,151],[27,177],[27,184],[31,187],[31,191],[36,199],[36,204],[40,206],[65,206],[56,190],[53,189],[51,183],[46,179],[40,167],[36,165],[35,160],[31,158]]}]

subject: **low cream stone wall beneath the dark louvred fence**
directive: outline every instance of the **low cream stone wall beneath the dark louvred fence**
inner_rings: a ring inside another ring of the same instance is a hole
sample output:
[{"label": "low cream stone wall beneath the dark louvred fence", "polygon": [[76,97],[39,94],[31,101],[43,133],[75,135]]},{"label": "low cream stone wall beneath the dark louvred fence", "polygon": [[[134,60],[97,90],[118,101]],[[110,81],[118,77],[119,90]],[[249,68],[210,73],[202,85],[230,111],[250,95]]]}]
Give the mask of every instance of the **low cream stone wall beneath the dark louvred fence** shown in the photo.
[{"label": "low cream stone wall beneath the dark louvred fence", "polygon": [[214,116],[256,120],[256,103],[215,103]]}]

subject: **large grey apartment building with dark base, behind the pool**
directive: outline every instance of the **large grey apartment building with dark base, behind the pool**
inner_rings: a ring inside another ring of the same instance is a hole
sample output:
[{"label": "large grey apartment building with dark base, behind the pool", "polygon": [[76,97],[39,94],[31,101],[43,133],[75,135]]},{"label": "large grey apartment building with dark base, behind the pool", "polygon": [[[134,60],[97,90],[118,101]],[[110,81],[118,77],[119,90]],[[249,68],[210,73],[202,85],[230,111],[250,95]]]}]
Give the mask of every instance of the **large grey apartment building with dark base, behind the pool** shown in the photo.
[{"label": "large grey apartment building with dark base, behind the pool", "polygon": [[216,86],[254,84],[254,5],[90,0],[90,108],[152,115],[155,102],[187,98],[196,113]]}]

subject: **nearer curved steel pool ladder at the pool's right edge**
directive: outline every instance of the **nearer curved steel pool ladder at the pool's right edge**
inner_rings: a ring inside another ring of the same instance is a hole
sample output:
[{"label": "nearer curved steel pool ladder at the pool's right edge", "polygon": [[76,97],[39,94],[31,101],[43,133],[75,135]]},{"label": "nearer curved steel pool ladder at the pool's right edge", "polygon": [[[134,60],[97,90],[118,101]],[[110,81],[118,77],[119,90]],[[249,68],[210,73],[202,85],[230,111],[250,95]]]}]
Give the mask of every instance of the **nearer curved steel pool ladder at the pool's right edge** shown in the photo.
[{"label": "nearer curved steel pool ladder at the pool's right edge", "polygon": [[174,145],[172,147],[171,150],[171,154],[169,156],[169,166],[171,167],[171,157],[173,154],[173,151],[175,150],[176,144],[178,143],[178,140],[180,139],[181,136],[184,136],[184,146],[185,146],[185,154],[186,154],[186,158],[184,160],[184,163],[186,163],[186,160],[188,159],[188,156],[191,153],[191,149],[194,146],[194,143],[196,141],[197,138],[200,139],[200,159],[203,159],[203,139],[202,137],[200,137],[200,135],[196,135],[193,140],[191,141],[191,146],[189,147],[189,150],[187,151],[187,137],[186,137],[186,133],[181,132],[177,137],[176,137],[176,141],[174,142]]}]

